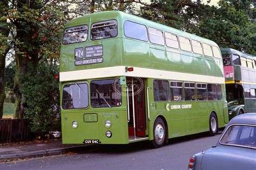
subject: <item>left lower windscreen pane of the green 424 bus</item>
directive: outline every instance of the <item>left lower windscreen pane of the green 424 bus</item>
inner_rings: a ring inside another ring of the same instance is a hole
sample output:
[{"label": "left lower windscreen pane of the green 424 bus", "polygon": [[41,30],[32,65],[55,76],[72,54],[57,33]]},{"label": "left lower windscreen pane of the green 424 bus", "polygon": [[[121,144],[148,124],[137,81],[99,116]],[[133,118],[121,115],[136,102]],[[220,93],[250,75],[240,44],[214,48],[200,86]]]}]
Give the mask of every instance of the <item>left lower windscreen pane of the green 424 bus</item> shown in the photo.
[{"label": "left lower windscreen pane of the green 424 bus", "polygon": [[88,84],[75,83],[63,87],[62,108],[82,109],[88,107]]}]

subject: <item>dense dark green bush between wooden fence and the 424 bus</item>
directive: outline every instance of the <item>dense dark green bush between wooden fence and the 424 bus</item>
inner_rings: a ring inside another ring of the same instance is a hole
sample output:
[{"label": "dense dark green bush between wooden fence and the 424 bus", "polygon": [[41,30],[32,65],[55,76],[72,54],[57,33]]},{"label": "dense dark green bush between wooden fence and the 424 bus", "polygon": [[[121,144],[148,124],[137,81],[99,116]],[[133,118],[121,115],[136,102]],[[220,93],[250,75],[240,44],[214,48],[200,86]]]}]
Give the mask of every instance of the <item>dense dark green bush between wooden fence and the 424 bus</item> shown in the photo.
[{"label": "dense dark green bush between wooden fence and the 424 bus", "polygon": [[21,93],[24,94],[24,113],[30,120],[31,131],[43,135],[49,130],[60,130],[60,108],[57,65],[42,62],[35,69],[29,63],[28,72],[21,75]]}]

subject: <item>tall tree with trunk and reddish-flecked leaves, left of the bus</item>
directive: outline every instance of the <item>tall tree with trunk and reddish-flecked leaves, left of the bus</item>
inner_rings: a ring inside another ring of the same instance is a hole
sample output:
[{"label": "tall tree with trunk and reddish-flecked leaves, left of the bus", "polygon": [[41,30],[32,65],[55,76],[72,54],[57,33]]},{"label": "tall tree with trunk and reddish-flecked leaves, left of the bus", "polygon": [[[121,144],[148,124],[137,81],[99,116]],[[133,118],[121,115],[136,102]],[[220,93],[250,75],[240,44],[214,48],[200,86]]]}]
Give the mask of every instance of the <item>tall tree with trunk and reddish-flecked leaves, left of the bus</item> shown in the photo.
[{"label": "tall tree with trunk and reddish-flecked leaves, left of the bus", "polygon": [[15,51],[14,118],[25,117],[26,100],[19,89],[21,75],[28,72],[29,63],[37,70],[39,61],[56,62],[58,59],[61,32],[71,19],[65,12],[67,6],[64,2],[17,0],[3,8],[7,15],[1,18],[9,20],[5,28],[9,30],[10,44]]}]

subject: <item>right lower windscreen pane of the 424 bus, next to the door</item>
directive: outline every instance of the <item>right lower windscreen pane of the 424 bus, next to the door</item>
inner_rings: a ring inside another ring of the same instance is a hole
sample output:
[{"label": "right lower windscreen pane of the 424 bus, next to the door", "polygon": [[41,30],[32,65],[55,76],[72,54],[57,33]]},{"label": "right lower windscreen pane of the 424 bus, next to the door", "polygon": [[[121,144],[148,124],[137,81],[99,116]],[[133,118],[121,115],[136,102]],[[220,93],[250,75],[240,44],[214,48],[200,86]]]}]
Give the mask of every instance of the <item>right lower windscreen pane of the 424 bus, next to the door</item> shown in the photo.
[{"label": "right lower windscreen pane of the 424 bus, next to the door", "polygon": [[119,79],[92,81],[90,90],[93,108],[111,108],[122,104],[122,89]]}]

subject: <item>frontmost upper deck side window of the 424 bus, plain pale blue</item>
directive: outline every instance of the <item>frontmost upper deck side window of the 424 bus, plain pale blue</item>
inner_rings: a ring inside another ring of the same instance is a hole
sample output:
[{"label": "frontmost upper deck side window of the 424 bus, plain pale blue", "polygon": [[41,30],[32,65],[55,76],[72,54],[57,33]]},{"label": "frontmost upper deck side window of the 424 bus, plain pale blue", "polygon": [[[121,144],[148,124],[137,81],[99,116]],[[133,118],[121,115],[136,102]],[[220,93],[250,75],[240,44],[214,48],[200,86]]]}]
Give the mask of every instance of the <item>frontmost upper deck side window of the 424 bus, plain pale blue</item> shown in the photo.
[{"label": "frontmost upper deck side window of the 424 bus, plain pale blue", "polygon": [[126,20],[124,23],[124,34],[126,37],[147,41],[147,27]]}]

